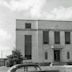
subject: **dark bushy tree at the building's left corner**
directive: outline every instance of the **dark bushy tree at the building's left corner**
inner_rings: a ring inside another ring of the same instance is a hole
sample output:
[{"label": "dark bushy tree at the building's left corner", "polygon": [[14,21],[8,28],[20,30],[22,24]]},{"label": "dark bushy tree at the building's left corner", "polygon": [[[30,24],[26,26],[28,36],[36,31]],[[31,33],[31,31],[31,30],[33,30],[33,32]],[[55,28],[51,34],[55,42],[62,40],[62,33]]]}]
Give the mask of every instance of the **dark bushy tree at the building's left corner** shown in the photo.
[{"label": "dark bushy tree at the building's left corner", "polygon": [[24,57],[22,56],[21,52],[17,49],[12,51],[12,54],[7,56],[7,66],[11,67],[15,64],[21,64]]}]

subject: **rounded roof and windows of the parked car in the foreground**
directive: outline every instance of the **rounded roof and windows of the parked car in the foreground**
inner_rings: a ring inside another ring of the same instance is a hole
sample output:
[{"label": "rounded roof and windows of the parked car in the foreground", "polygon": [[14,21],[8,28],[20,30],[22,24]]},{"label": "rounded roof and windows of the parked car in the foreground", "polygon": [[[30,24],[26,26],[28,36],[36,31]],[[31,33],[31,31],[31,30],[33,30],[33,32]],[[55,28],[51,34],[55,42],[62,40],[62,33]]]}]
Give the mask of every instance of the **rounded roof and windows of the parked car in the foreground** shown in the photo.
[{"label": "rounded roof and windows of the parked car in the foreground", "polygon": [[12,66],[7,72],[38,72],[41,68],[38,64],[17,64]]}]

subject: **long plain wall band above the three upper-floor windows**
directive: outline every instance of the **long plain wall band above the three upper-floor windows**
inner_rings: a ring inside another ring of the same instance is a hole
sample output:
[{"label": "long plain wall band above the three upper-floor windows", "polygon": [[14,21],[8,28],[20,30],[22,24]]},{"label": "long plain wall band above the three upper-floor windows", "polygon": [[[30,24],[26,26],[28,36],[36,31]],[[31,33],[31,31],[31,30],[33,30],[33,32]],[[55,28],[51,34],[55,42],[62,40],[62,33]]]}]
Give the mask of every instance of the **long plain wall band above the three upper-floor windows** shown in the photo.
[{"label": "long plain wall band above the three upper-floor windows", "polygon": [[72,21],[39,20],[39,29],[72,30]]}]

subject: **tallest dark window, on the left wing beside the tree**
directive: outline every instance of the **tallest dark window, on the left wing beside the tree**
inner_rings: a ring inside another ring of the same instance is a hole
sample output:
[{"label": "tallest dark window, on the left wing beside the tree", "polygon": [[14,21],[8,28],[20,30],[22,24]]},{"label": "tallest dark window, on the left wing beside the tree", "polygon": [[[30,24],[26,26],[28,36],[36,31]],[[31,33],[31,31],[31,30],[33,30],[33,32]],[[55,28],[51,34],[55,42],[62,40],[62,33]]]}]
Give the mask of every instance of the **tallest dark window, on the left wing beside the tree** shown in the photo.
[{"label": "tallest dark window, on the left wing beside the tree", "polygon": [[31,59],[32,57],[32,36],[25,35],[25,58]]}]

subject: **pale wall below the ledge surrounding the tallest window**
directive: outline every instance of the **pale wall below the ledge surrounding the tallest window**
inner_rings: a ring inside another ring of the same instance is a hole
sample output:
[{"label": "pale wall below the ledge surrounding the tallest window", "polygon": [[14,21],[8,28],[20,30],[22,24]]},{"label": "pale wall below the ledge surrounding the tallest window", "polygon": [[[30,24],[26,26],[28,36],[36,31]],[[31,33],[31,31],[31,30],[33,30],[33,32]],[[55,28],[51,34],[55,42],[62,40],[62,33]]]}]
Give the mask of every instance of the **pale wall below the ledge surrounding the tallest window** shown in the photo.
[{"label": "pale wall below the ledge surrounding the tallest window", "polygon": [[39,61],[38,59],[38,33],[37,31],[17,31],[16,36],[16,48],[19,49],[22,54],[25,54],[25,38],[24,35],[32,35],[32,60]]}]

